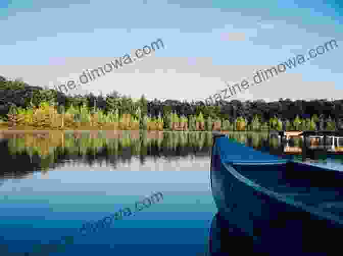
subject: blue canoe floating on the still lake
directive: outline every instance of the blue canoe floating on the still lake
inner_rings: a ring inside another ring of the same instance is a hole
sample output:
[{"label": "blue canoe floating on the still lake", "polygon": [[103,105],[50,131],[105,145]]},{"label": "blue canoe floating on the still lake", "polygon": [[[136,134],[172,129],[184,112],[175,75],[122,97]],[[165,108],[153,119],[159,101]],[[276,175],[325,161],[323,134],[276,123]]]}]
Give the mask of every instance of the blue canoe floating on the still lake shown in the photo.
[{"label": "blue canoe floating on the still lake", "polygon": [[262,153],[214,133],[210,179],[222,225],[239,230],[240,239],[222,241],[232,249],[271,255],[339,251],[343,172]]}]

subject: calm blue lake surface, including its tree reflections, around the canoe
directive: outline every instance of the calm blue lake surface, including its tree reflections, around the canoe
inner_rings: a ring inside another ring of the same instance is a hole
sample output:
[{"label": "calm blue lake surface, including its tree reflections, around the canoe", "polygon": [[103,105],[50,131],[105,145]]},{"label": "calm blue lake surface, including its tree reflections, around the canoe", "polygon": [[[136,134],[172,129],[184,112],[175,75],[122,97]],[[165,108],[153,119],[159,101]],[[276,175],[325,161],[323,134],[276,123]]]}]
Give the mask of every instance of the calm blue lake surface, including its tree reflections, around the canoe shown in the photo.
[{"label": "calm blue lake surface, including its tree reflections, around the canoe", "polygon": [[[268,134],[230,136],[287,157],[286,146]],[[216,214],[211,145],[208,132],[3,135],[0,255],[207,255]],[[291,157],[343,170],[340,155]],[[134,212],[135,202],[156,192],[163,200]],[[85,222],[124,208],[134,213],[81,236]]]}]

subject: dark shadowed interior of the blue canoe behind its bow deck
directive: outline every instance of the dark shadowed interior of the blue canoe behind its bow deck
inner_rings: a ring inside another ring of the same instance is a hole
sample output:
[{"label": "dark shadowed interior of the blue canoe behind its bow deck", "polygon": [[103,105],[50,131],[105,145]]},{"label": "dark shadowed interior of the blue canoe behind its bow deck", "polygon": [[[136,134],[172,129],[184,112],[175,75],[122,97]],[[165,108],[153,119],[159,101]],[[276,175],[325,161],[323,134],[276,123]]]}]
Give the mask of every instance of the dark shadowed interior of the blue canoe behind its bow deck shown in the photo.
[{"label": "dark shadowed interior of the blue canoe behind its bow deck", "polygon": [[343,215],[343,172],[296,162],[232,167],[261,187]]}]

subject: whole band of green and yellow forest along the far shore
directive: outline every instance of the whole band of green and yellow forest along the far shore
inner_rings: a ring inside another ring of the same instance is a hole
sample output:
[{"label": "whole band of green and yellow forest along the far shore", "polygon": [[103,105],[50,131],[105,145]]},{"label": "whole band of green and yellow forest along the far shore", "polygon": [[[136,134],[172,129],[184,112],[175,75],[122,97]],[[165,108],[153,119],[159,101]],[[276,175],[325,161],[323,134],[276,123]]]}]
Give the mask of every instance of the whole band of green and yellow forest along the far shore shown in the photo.
[{"label": "whole band of green and yellow forest along the far shore", "polygon": [[[278,101],[146,100],[117,91],[95,96],[65,95],[0,76],[0,124],[119,130],[340,130],[343,100]],[[55,121],[54,121],[55,120]],[[55,125],[53,123],[56,123]],[[112,126],[111,126],[112,124]],[[87,126],[87,125],[86,125]]]}]

